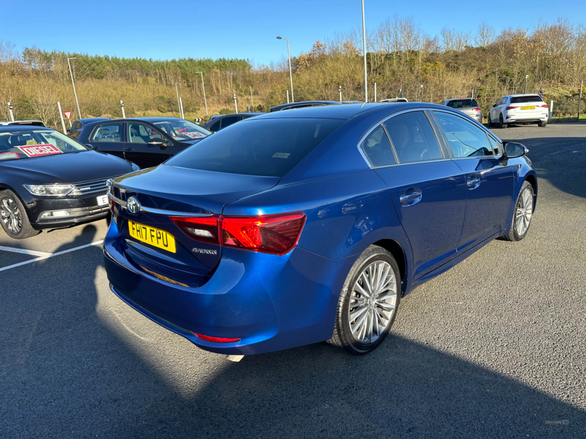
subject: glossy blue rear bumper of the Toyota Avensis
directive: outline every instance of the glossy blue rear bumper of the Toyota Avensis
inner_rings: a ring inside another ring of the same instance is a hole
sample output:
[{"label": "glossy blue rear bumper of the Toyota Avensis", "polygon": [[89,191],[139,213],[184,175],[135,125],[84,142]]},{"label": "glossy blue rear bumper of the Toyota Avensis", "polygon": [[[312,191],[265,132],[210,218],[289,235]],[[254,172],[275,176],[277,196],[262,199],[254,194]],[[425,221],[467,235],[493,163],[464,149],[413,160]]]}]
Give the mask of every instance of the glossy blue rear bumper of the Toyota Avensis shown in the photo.
[{"label": "glossy blue rear bumper of the Toyota Avensis", "polygon": [[[251,355],[332,337],[343,273],[353,260],[323,258],[299,247],[283,256],[223,248],[209,280],[189,287],[172,283],[169,272],[154,276],[143,270],[127,257],[119,236],[113,221],[104,240],[111,290],[200,348]],[[204,341],[194,332],[240,340]]]}]

